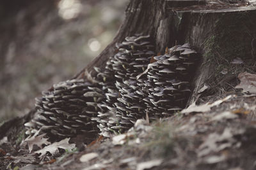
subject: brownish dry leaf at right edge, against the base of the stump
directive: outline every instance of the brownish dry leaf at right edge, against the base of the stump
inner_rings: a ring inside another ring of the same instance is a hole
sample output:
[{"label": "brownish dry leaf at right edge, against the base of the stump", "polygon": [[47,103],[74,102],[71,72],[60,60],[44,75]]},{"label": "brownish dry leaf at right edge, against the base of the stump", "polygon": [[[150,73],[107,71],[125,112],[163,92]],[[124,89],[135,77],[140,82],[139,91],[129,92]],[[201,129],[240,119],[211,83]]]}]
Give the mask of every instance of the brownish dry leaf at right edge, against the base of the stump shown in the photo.
[{"label": "brownish dry leaf at right edge, against the base of the stump", "polygon": [[243,89],[243,92],[256,94],[256,74],[244,72],[240,73],[238,78],[241,82],[235,87],[236,89]]}]

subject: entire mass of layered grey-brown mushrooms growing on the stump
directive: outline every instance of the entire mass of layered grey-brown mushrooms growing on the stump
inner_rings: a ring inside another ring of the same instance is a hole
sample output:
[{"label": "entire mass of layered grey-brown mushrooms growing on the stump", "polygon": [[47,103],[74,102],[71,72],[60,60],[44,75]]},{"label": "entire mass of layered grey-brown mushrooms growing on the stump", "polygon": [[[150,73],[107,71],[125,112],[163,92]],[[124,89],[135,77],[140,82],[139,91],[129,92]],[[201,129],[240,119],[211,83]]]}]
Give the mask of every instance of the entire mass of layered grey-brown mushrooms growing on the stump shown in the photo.
[{"label": "entire mass of layered grey-brown mushrooms growing on the stump", "polygon": [[36,114],[27,134],[42,129],[54,139],[86,133],[109,138],[139,118],[168,117],[182,110],[191,93],[198,53],[189,44],[155,56],[150,36],[131,36],[116,43],[117,52],[89,80],[67,80],[36,98]]}]

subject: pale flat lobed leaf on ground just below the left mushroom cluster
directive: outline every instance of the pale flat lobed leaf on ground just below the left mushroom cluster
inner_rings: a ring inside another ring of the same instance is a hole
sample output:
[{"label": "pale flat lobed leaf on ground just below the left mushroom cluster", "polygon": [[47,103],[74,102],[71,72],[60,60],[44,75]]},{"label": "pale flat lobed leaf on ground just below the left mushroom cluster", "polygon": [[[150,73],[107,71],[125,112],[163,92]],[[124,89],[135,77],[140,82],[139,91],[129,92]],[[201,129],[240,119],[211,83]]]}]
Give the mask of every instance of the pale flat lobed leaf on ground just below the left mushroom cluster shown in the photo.
[{"label": "pale flat lobed leaf on ground just below the left mushroom cluster", "polygon": [[41,153],[40,157],[42,157],[43,155],[45,155],[46,152],[50,152],[52,155],[54,155],[54,153],[58,152],[58,148],[61,148],[64,150],[72,150],[76,147],[76,144],[68,143],[69,139],[70,138],[66,138],[59,142],[54,142],[49,146],[45,146],[44,148],[42,148],[42,150],[36,151],[35,153]]}]

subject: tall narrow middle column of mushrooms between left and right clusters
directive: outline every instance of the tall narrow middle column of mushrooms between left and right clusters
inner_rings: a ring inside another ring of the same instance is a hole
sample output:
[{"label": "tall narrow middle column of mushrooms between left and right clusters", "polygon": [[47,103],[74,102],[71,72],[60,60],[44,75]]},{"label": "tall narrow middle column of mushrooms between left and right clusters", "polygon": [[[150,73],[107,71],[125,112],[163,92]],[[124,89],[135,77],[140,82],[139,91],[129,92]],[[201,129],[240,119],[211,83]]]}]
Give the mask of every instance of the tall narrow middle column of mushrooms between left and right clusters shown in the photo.
[{"label": "tall narrow middle column of mushrooms between left and right clusters", "polygon": [[[132,36],[122,43],[116,43],[118,52],[107,62],[104,77],[111,73],[111,78],[104,78],[106,101],[99,104],[104,108],[97,118],[101,134],[109,137],[111,132],[124,132],[138,118],[145,116],[145,104],[136,93],[140,90],[136,76],[148,66],[150,57],[154,56],[154,45],[149,36]],[[108,73],[106,73],[108,72]],[[98,73],[102,75],[102,73]],[[97,77],[99,77],[97,76]],[[107,90],[107,91],[106,91]],[[103,122],[102,122],[103,121]]]}]

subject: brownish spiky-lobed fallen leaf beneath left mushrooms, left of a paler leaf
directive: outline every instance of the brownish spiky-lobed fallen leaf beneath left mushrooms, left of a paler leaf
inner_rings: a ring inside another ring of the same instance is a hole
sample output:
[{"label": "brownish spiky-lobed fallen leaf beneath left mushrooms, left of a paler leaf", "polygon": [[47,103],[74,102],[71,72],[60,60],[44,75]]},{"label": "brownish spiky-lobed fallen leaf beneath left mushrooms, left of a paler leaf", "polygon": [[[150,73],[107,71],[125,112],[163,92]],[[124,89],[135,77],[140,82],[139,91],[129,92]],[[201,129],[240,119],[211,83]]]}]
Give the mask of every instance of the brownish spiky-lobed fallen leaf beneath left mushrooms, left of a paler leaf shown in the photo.
[{"label": "brownish spiky-lobed fallen leaf beneath left mushrooms, left of a paler leaf", "polygon": [[49,145],[51,144],[48,140],[48,138],[44,138],[45,134],[40,134],[37,136],[40,132],[40,129],[33,135],[26,138],[22,143],[20,143],[20,146],[26,146],[28,145],[29,153],[33,150],[33,146],[37,145],[42,149],[42,145]]}]

